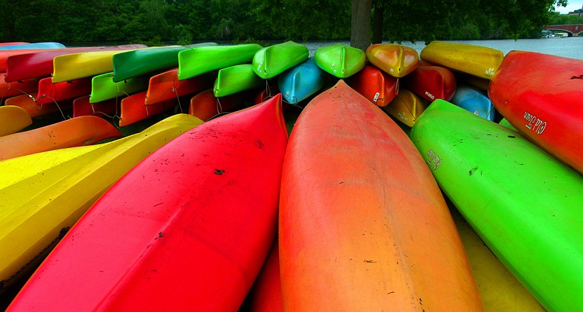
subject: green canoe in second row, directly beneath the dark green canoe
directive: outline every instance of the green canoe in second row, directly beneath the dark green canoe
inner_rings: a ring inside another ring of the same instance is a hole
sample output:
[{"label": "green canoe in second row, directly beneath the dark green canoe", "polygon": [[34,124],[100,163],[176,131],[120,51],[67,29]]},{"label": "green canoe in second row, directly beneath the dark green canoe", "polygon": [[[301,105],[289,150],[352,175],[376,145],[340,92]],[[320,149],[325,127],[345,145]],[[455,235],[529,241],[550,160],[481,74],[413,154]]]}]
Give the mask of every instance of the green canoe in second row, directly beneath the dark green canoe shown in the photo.
[{"label": "green canoe in second row, directly beneath the dark green canoe", "polygon": [[89,103],[98,103],[108,99],[115,99],[118,96],[127,96],[147,89],[150,77],[140,75],[137,77],[113,82],[113,73],[104,73],[91,79],[91,95]]}]

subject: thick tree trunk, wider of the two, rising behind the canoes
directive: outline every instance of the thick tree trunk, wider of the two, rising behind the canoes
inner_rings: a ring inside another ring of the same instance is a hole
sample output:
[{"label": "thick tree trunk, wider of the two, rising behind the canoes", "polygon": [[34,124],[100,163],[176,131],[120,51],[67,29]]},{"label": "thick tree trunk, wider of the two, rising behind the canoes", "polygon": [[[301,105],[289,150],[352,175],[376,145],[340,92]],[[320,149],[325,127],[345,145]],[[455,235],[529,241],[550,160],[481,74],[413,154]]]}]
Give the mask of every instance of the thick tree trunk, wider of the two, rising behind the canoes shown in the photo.
[{"label": "thick tree trunk, wider of the two, rising behind the canoes", "polygon": [[370,45],[370,10],[372,0],[352,0],[350,47],[366,51]]}]

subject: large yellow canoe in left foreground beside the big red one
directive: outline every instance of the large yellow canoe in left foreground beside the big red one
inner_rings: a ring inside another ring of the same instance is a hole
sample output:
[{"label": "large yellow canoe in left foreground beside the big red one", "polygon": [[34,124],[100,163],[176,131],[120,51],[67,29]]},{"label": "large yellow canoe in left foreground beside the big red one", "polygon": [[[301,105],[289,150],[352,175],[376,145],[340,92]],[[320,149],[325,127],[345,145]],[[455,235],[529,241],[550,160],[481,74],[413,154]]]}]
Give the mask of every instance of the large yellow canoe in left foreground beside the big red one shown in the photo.
[{"label": "large yellow canoe in left foreground beside the big red one", "polygon": [[32,269],[123,174],[200,124],[179,114],[110,143],[0,162],[0,291]]}]

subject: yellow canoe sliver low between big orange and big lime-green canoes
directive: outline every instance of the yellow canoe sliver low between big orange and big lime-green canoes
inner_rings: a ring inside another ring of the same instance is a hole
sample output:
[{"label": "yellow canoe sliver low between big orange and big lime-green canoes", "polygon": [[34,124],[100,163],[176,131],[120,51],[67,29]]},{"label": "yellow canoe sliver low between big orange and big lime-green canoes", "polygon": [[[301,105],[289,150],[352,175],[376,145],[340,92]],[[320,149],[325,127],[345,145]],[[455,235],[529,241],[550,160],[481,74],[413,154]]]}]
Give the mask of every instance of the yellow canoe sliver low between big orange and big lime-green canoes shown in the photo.
[{"label": "yellow canoe sliver low between big orange and big lime-green canoes", "polygon": [[488,312],[546,311],[492,254],[455,207],[451,206],[450,210],[466,248],[484,309]]}]

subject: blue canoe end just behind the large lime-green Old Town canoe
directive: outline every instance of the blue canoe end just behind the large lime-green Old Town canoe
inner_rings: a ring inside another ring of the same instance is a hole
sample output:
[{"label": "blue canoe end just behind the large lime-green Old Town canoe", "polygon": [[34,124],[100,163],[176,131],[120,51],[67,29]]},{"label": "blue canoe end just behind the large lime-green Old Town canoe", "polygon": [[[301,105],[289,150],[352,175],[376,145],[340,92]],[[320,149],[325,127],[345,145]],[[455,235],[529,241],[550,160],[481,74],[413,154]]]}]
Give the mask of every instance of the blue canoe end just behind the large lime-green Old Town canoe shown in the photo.
[{"label": "blue canoe end just behind the large lime-green Old Town canoe", "polygon": [[479,117],[491,121],[494,120],[496,110],[492,106],[492,101],[484,93],[472,86],[458,85],[455,89],[455,94],[451,98],[451,103],[468,110],[468,112],[473,112]]}]

